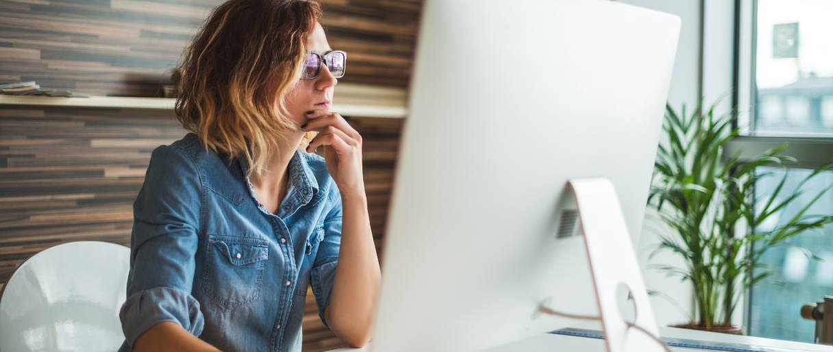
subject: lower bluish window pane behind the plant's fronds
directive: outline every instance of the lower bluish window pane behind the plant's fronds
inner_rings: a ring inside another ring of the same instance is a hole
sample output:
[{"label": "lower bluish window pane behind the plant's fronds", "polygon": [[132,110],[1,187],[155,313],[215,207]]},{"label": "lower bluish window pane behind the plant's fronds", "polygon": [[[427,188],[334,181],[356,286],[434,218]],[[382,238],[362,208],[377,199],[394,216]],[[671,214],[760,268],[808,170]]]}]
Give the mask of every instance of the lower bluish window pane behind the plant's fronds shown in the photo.
[{"label": "lower bluish window pane behind the plant's fronds", "polygon": [[[781,167],[759,167],[756,172],[772,172],[756,183],[756,200],[768,200],[775,191],[781,177],[788,172],[786,190],[795,190],[799,182],[809,176],[812,170]],[[823,171],[808,181],[806,192],[791,206],[771,216],[757,232],[771,231],[796,216],[820,191],[833,184],[833,171]],[[781,194],[791,193],[781,191]],[[777,199],[776,199],[777,201]],[[756,206],[763,206],[759,201]],[[806,212],[806,215],[833,214],[833,191],[824,196]],[[801,305],[824,300],[833,295],[833,228],[828,226],[819,231],[804,231],[788,240],[789,244],[767,251],[761,263],[774,270],[775,275],[755,285],[751,290],[749,311],[749,334],[779,340],[813,342],[816,323],[801,318]],[[810,250],[822,260],[814,260],[797,246]]]}]

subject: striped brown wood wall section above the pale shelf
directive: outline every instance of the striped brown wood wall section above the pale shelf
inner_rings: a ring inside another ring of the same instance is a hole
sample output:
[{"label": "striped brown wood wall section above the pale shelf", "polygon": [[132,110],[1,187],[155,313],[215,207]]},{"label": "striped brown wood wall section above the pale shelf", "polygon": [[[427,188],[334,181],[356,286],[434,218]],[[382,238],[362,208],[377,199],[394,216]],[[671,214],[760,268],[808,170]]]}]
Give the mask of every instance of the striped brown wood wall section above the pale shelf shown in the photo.
[{"label": "striped brown wood wall section above the pale shelf", "polygon": [[[0,83],[96,96],[161,96],[182,50],[222,0],[0,0]],[[407,87],[421,0],[323,0],[348,53],[342,82]]]}]

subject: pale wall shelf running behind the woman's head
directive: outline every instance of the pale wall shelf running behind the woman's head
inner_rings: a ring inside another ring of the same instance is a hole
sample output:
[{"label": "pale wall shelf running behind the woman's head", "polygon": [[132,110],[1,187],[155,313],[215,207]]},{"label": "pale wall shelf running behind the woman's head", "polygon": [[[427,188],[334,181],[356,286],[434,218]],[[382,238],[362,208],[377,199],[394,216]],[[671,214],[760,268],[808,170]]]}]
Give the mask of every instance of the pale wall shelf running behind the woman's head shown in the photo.
[{"label": "pale wall shelf running behind the woman's head", "polygon": [[[345,116],[403,118],[407,92],[402,88],[342,83],[336,86],[332,110]],[[105,107],[170,110],[176,99],[149,97],[42,97],[0,95],[0,106]]]}]

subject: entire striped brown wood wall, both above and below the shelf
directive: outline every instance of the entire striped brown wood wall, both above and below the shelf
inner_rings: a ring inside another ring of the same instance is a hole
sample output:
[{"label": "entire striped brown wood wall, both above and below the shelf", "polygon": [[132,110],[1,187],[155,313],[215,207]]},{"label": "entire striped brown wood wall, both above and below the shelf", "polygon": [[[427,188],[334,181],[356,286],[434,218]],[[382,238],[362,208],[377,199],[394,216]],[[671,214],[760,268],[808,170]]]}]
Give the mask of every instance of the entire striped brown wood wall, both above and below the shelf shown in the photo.
[{"label": "entire striped brown wood wall, both above and below the shelf", "polygon": [[[0,83],[155,97],[222,0],[0,0]],[[342,82],[407,87],[421,0],[322,0]],[[401,120],[353,118],[382,244]],[[169,111],[0,107],[0,287],[31,255],[74,240],[129,245],[132,201],[153,147],[182,136]],[[307,295],[305,351],[343,346]]]}]

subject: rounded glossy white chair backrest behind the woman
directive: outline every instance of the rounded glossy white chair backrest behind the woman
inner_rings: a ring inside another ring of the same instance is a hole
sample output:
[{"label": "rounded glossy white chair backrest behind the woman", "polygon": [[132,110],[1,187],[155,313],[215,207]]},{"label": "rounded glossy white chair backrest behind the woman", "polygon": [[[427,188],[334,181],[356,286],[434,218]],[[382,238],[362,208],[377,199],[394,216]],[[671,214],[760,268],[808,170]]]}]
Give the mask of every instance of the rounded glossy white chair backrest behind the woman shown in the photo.
[{"label": "rounded glossy white chair backrest behind the woman", "polygon": [[107,242],[72,242],[32,256],[3,288],[0,352],[118,350],[129,270],[130,249]]}]

